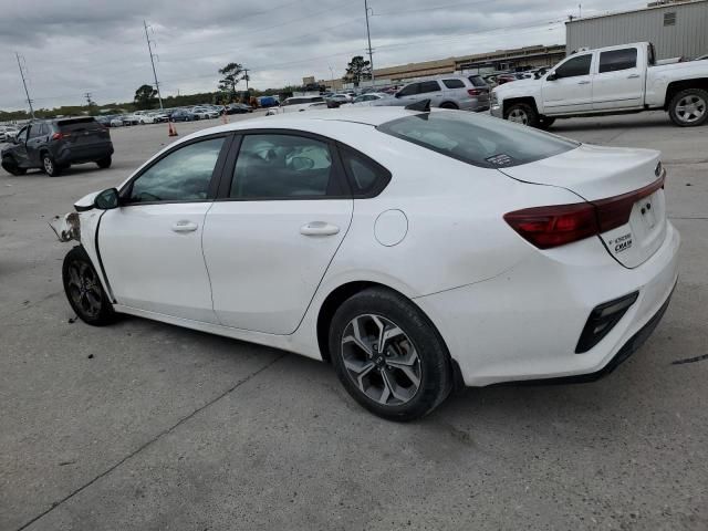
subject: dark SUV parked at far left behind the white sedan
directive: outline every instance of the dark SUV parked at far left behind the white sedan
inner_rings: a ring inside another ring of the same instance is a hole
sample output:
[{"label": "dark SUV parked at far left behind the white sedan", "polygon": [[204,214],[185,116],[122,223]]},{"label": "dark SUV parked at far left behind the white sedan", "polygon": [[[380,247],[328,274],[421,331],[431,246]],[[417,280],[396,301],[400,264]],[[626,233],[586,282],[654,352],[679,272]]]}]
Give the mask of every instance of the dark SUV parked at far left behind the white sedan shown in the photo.
[{"label": "dark SUV parked at far left behind the white sedan", "polygon": [[111,166],[113,143],[108,129],[93,117],[32,122],[2,149],[2,167],[12,175],[41,168],[58,176],[72,164]]}]

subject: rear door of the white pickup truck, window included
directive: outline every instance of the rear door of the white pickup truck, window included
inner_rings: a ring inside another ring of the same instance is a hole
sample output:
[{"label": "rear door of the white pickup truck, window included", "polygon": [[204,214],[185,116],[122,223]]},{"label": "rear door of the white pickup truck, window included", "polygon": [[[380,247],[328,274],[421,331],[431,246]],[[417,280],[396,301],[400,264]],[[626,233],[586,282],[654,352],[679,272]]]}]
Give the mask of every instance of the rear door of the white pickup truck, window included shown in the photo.
[{"label": "rear door of the white pickup truck, window included", "polygon": [[636,108],[644,105],[645,61],[636,46],[600,52],[593,76],[593,110]]}]

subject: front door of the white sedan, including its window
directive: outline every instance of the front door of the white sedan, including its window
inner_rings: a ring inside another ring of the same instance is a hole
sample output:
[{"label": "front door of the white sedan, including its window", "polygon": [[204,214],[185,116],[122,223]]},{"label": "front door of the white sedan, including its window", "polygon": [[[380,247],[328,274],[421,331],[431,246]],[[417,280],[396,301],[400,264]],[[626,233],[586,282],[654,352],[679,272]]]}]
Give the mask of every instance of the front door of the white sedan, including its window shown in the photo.
[{"label": "front door of the white sedan, including its window", "polygon": [[201,237],[228,144],[220,136],[177,146],[121,190],[121,207],[103,215],[98,251],[118,304],[217,322]]}]

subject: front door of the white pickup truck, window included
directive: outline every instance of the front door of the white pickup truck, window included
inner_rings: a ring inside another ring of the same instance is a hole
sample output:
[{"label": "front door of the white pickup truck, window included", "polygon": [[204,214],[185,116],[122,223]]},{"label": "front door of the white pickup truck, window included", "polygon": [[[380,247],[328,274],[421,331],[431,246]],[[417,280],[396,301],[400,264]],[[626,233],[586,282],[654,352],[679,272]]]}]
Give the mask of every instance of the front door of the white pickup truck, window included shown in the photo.
[{"label": "front door of the white pickup truck, window included", "polygon": [[592,111],[592,53],[573,55],[543,80],[543,114],[570,114]]}]

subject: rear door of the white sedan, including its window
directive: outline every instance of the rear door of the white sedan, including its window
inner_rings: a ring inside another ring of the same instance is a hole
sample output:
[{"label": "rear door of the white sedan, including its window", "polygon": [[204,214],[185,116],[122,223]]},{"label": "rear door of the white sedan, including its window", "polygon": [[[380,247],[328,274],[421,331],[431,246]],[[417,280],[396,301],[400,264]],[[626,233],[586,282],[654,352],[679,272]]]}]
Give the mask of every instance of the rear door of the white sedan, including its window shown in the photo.
[{"label": "rear door of the white sedan, including its window", "polygon": [[204,232],[214,309],[226,326],[290,334],[352,220],[334,145],[300,133],[248,134],[228,188]]}]

